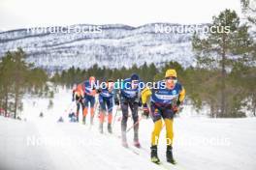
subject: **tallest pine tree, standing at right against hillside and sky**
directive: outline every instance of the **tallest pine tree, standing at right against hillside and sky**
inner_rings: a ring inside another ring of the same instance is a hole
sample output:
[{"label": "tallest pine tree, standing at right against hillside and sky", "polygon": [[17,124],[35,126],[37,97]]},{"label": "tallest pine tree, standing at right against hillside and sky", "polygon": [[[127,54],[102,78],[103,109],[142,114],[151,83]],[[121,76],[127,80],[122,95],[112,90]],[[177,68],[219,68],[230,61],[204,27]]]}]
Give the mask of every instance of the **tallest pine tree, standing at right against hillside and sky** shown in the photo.
[{"label": "tallest pine tree, standing at right against hillside and sky", "polygon": [[[218,16],[213,17],[209,27],[214,28],[212,32],[201,36],[193,36],[193,50],[197,56],[199,68],[208,68],[211,71],[218,71],[215,84],[216,104],[218,117],[227,117],[233,114],[232,99],[228,95],[231,87],[228,86],[227,70],[232,69],[245,52],[251,49],[252,39],[247,32],[246,25],[240,25],[240,18],[235,11],[225,10]],[[207,88],[207,87],[206,87]]]}]

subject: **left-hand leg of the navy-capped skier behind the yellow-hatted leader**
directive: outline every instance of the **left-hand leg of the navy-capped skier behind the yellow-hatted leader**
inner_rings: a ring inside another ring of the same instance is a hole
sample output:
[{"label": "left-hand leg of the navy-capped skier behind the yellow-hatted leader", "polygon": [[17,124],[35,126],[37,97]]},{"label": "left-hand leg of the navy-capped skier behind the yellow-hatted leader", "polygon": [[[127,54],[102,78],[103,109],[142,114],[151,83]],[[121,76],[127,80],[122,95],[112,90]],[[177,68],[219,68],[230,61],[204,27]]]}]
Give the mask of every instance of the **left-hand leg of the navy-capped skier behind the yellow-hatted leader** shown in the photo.
[{"label": "left-hand leg of the navy-capped skier behind the yellow-hatted leader", "polygon": [[122,144],[124,147],[128,147],[127,140],[126,140],[126,128],[127,128],[127,120],[128,120],[128,102],[125,99],[121,101],[121,110],[122,110],[122,121],[121,121]]}]

